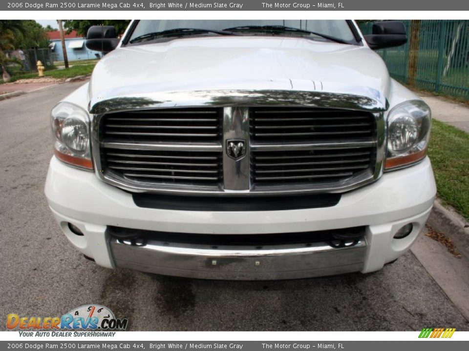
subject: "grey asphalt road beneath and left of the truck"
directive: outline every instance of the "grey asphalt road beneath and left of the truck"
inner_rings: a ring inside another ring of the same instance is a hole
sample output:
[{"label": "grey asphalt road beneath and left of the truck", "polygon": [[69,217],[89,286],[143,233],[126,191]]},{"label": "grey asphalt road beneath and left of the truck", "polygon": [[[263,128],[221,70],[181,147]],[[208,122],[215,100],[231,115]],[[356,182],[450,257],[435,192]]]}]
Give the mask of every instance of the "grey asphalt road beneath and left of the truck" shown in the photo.
[{"label": "grey asphalt road beneath and left of the truck", "polygon": [[43,195],[52,156],[49,111],[81,84],[0,102],[0,329],[8,313],[56,316],[96,303],[140,331],[469,330],[410,252],[367,275],[269,282],[173,278],[85,260]]}]

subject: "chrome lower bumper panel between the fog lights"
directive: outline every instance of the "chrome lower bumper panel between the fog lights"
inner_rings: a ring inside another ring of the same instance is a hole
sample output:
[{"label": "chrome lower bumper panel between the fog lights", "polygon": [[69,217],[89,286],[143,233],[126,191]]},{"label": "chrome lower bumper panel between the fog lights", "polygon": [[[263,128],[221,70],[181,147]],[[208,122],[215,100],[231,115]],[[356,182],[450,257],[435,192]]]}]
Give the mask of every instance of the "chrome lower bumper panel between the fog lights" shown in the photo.
[{"label": "chrome lower bumper panel between the fog lights", "polygon": [[320,242],[258,248],[111,238],[110,248],[117,267],[190,278],[270,280],[359,272],[366,242],[350,241],[343,247]]}]

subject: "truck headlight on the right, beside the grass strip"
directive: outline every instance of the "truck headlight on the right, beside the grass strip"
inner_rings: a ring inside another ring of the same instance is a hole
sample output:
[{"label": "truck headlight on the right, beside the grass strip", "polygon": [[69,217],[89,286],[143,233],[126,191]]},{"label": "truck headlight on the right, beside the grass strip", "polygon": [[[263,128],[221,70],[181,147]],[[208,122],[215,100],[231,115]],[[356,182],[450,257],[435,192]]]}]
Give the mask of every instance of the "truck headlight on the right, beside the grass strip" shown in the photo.
[{"label": "truck headlight on the right, beside the grass strip", "polygon": [[385,170],[411,165],[426,156],[430,122],[430,108],[421,100],[405,101],[389,112]]}]

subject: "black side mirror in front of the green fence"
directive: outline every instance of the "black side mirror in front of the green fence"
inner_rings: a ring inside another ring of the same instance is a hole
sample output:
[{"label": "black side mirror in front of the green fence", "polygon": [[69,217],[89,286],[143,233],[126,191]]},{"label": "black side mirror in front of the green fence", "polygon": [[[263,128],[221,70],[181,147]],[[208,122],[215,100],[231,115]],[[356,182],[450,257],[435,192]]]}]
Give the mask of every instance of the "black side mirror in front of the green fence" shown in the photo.
[{"label": "black side mirror in front of the green fence", "polygon": [[405,44],[407,33],[403,22],[375,22],[373,23],[373,34],[366,35],[364,38],[371,49],[378,50]]}]

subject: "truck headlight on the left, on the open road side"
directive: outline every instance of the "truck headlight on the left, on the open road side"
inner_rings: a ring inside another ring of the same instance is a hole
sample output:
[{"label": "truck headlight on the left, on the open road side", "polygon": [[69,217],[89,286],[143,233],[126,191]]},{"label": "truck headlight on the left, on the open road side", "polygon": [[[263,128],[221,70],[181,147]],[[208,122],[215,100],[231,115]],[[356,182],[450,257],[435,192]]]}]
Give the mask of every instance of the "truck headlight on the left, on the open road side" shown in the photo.
[{"label": "truck headlight on the left, on the open road side", "polygon": [[60,102],[51,112],[54,153],[71,165],[93,169],[89,144],[89,117],[81,107]]}]

